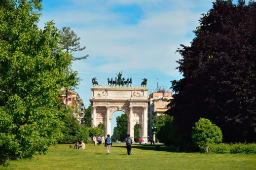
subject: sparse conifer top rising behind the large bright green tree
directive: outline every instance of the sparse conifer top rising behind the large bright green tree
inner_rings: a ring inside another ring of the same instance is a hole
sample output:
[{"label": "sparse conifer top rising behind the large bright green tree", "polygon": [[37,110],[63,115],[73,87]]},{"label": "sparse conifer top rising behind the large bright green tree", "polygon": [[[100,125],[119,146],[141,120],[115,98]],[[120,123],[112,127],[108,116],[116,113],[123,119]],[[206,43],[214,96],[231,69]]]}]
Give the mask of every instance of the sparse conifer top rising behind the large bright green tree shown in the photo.
[{"label": "sparse conifer top rising behind the large bright green tree", "polygon": [[[86,47],[80,47],[80,37],[77,37],[77,35],[70,29],[70,27],[63,27],[62,30],[60,30],[60,38],[59,38],[59,44],[60,46],[65,49],[67,52],[75,52],[75,51],[82,51]],[[81,60],[88,58],[89,55],[83,57],[73,57],[73,60]]]}]

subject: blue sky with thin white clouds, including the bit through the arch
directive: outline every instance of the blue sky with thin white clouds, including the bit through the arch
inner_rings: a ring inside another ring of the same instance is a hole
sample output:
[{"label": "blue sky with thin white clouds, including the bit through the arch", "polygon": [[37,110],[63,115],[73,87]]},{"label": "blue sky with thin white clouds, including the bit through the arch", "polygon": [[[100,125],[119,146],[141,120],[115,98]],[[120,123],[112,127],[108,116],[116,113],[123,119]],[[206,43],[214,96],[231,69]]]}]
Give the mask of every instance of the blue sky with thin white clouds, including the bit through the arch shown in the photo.
[{"label": "blue sky with thin white clouds, including the bit through the arch", "polygon": [[122,70],[123,77],[133,78],[134,86],[147,78],[149,92],[156,89],[157,78],[159,86],[167,88],[171,80],[182,78],[175,69],[181,59],[176,50],[180,44],[190,44],[192,31],[212,0],[43,0],[42,4],[39,27],[51,20],[59,29],[71,27],[86,46],[74,56],[90,54],[73,63],[81,78],[75,91],[87,107],[92,77],[106,86],[107,78]]}]

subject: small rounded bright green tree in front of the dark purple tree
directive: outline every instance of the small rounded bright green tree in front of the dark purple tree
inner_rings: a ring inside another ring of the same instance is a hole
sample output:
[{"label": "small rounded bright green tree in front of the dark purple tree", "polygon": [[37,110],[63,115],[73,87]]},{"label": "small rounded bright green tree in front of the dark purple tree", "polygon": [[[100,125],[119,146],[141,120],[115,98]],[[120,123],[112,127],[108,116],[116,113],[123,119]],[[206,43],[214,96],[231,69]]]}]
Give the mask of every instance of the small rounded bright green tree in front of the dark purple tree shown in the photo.
[{"label": "small rounded bright green tree in front of the dark purple tree", "polygon": [[209,119],[200,118],[191,133],[193,143],[199,148],[210,143],[220,143],[222,141],[222,133],[218,126],[213,124]]}]

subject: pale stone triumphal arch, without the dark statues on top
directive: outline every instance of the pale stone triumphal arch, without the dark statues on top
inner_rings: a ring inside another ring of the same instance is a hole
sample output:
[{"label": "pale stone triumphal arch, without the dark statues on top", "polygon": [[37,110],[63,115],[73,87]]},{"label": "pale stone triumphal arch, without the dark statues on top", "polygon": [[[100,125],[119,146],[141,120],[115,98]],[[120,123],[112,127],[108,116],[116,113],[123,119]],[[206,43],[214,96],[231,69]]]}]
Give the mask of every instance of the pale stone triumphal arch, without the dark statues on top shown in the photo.
[{"label": "pale stone triumphal arch, without the dark statues on top", "polygon": [[140,124],[142,138],[147,141],[147,91],[146,87],[95,86],[91,88],[91,125],[103,124],[110,134],[111,116],[121,110],[127,115],[127,134],[134,136],[134,126]]}]

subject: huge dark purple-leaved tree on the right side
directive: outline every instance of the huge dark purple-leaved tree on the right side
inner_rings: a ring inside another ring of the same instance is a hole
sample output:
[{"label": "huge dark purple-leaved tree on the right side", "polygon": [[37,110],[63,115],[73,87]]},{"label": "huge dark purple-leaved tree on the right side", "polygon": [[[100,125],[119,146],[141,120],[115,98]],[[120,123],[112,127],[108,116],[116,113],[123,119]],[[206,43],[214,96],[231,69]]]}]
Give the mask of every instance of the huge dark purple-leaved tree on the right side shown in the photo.
[{"label": "huge dark purple-leaved tree on the right side", "polygon": [[204,117],[220,127],[225,142],[256,141],[256,2],[216,0],[200,19],[191,46],[181,45],[181,80],[168,111],[189,142]]}]

